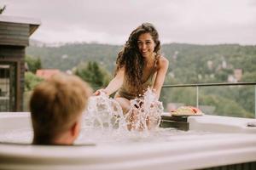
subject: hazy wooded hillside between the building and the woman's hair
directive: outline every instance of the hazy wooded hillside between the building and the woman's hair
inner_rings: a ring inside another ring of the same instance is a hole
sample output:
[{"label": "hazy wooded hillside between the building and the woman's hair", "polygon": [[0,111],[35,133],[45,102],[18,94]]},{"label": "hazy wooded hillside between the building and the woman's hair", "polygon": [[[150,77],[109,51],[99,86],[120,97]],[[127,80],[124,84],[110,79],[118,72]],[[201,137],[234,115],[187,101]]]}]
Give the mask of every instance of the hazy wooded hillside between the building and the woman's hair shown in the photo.
[{"label": "hazy wooded hillside between the building and the woman's hair", "polygon": [[26,48],[26,54],[40,58],[44,68],[67,71],[81,62],[97,61],[112,71],[120,49],[120,46],[96,43],[64,44],[60,47],[31,46]]}]

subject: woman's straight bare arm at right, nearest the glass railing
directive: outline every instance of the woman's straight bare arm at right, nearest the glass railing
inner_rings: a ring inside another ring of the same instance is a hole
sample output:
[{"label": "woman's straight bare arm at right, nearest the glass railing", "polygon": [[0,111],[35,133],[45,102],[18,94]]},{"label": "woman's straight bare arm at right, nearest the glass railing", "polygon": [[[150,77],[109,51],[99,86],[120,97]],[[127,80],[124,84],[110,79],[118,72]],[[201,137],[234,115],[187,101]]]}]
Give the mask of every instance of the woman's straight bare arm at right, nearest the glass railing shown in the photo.
[{"label": "woman's straight bare arm at right, nearest the glass railing", "polygon": [[160,98],[160,92],[161,88],[165,82],[166,78],[166,72],[168,70],[168,65],[169,61],[165,57],[161,56],[159,59],[159,64],[158,64],[158,70],[156,73],[155,81],[154,81],[154,94],[156,94],[157,99]]}]

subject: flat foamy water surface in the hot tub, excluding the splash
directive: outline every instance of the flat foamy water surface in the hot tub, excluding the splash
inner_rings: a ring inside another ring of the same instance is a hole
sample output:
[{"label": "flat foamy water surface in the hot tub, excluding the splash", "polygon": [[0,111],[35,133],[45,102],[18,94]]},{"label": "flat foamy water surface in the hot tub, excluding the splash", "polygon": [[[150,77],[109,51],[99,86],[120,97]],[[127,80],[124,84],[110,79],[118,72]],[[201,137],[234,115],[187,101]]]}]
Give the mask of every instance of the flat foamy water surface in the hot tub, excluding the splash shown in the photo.
[{"label": "flat foamy water surface in the hot tub, excluding the splash", "polygon": [[[210,134],[210,135],[207,135]],[[114,129],[87,128],[82,127],[79,138],[75,144],[97,144],[97,145],[123,145],[123,144],[145,144],[172,141],[184,141],[193,139],[214,139],[214,133],[198,131],[180,131],[175,128],[154,128],[149,133],[146,131],[129,131],[121,133]],[[217,134],[215,134],[217,135]],[[219,134],[218,134],[219,135]],[[227,134],[223,134],[225,137]],[[223,137],[221,137],[223,138]],[[0,141],[16,144],[32,143],[32,128],[20,128],[0,134]]]}]

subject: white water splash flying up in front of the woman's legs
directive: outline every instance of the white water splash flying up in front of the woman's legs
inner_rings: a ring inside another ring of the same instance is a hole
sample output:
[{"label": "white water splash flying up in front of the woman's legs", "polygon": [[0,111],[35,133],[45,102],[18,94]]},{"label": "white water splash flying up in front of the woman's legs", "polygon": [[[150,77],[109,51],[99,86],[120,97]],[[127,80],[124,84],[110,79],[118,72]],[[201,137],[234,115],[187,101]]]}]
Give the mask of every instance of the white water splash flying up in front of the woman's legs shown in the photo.
[{"label": "white water splash flying up in front of the woman's legs", "polygon": [[131,100],[131,110],[125,116],[119,103],[101,93],[89,99],[85,124],[87,127],[118,129],[120,131],[148,131],[158,127],[163,105],[148,88],[142,99]]}]

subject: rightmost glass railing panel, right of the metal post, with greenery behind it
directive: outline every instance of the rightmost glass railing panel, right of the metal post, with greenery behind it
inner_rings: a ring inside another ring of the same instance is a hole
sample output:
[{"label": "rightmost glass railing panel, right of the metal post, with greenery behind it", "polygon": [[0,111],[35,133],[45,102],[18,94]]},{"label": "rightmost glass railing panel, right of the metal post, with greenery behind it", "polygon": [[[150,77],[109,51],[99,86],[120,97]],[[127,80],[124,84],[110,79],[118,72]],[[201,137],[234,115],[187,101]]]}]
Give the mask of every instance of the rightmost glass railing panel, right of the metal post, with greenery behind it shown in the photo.
[{"label": "rightmost glass railing panel, right of the metal post, with greenery behind it", "polygon": [[254,86],[199,88],[199,108],[207,115],[254,117]]}]

